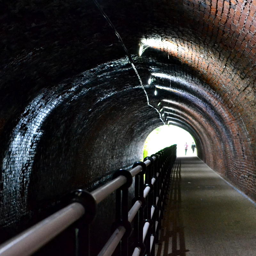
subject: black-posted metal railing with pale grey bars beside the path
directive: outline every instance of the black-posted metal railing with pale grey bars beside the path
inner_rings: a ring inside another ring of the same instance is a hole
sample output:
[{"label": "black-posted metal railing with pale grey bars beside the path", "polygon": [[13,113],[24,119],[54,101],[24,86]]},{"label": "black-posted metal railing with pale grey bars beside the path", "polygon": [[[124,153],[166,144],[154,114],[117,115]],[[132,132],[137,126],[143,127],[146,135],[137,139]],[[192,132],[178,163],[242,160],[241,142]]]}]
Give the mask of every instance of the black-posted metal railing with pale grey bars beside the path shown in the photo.
[{"label": "black-posted metal railing with pale grey bars beside the path", "polygon": [[[133,232],[132,256],[155,255],[155,243],[163,218],[164,203],[176,159],[176,145],[164,148],[136,162],[130,171],[120,169],[113,180],[91,193],[78,189],[71,193],[71,203],[0,246],[0,256],[26,256],[36,252],[71,224],[84,223],[82,246],[74,255],[90,255],[89,225],[96,215],[97,204],[116,191],[116,229],[98,256],[110,256],[115,250],[128,255],[128,239]],[[135,177],[133,205],[128,210],[128,188]],[[132,228],[133,224],[133,228]],[[131,250],[131,248],[130,248]]]}]

